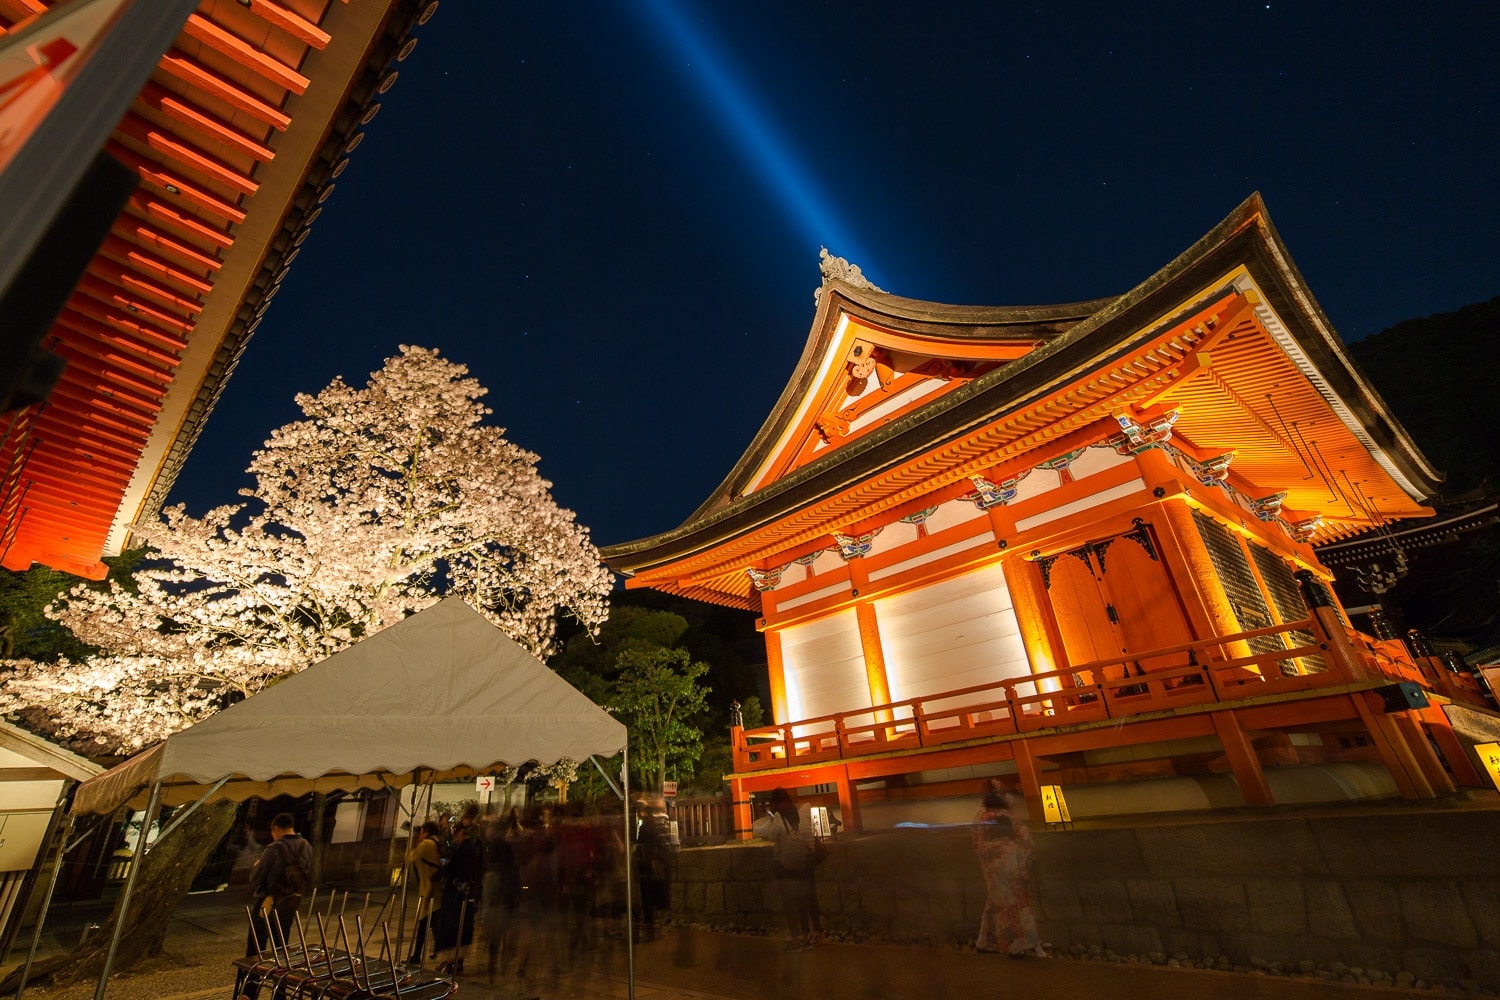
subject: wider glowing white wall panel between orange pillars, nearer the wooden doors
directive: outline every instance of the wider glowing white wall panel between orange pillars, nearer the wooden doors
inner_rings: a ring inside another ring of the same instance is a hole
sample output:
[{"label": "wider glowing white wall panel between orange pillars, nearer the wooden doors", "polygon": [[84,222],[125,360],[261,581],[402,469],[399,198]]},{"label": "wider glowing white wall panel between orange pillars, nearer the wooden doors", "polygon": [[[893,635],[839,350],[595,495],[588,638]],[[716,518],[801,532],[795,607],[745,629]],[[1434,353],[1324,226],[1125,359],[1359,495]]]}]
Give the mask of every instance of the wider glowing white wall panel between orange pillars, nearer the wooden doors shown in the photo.
[{"label": "wider glowing white wall panel between orange pillars, nearer the wooden doors", "polygon": [[894,702],[1030,673],[999,564],[878,600],[874,613]]}]

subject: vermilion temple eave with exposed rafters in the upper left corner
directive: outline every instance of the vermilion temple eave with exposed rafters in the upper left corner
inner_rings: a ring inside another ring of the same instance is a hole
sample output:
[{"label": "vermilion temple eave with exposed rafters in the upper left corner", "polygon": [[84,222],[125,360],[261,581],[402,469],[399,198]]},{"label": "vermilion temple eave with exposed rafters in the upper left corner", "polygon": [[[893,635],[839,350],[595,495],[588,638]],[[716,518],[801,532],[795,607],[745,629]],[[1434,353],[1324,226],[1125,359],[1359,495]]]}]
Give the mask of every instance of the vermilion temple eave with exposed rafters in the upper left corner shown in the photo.
[{"label": "vermilion temple eave with exposed rafters in the upper left corner", "polygon": [[[0,0],[0,43],[54,6]],[[100,555],[156,514],[436,6],[202,0],[160,51],[102,150],[135,192],[38,345],[66,367],[45,400],[0,414],[0,565],[99,579]],[[72,43],[27,51],[34,72],[0,90],[0,135]]]}]

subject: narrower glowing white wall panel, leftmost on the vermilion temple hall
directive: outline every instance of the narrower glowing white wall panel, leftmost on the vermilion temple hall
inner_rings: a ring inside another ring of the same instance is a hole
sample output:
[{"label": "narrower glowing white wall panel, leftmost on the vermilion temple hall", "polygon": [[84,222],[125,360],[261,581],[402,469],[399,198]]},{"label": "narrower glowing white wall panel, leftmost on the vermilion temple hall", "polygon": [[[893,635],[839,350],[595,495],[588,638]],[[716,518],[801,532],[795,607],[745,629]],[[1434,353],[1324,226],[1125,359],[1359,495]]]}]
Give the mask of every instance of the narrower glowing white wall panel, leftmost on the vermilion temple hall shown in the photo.
[{"label": "narrower glowing white wall panel, leftmost on the vermilion temple hall", "polygon": [[870,708],[870,682],[852,609],[783,630],[782,667],[790,718]]}]

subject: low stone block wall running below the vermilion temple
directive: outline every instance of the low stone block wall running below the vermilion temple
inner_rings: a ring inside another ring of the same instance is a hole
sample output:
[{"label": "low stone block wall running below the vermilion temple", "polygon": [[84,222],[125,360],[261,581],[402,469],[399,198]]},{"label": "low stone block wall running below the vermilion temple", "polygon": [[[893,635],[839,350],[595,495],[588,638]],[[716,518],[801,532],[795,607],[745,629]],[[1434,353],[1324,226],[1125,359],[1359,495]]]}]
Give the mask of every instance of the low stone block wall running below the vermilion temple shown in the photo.
[{"label": "low stone block wall running below the vermilion temple", "polygon": [[[1428,810],[1036,834],[1036,919],[1059,949],[1158,961],[1407,972],[1500,990],[1500,810]],[[963,828],[834,841],[818,873],[828,931],[972,942],[984,883]],[[680,921],[778,927],[770,847],[684,850]]]}]

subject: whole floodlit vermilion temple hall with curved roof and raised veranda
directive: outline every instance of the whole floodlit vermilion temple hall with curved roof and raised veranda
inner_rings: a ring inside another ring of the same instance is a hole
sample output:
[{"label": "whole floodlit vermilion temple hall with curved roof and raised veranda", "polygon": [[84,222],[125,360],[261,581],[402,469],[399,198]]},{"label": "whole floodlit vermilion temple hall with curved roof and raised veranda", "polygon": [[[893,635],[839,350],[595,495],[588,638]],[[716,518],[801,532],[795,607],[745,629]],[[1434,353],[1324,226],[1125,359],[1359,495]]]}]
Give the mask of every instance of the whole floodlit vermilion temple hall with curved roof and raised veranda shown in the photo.
[{"label": "whole floodlit vermilion temple hall with curved roof and raised veranda", "polygon": [[750,792],[836,789],[860,829],[861,802],[986,768],[1034,802],[1226,771],[1269,805],[1272,768],[1364,760],[1425,798],[1480,784],[1444,703],[1484,697],[1348,628],[1312,544],[1430,514],[1438,480],[1252,196],[1118,298],[945,306],[825,259],[744,457],[604,555],[764,616],[741,831]]}]

